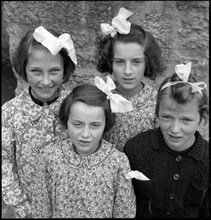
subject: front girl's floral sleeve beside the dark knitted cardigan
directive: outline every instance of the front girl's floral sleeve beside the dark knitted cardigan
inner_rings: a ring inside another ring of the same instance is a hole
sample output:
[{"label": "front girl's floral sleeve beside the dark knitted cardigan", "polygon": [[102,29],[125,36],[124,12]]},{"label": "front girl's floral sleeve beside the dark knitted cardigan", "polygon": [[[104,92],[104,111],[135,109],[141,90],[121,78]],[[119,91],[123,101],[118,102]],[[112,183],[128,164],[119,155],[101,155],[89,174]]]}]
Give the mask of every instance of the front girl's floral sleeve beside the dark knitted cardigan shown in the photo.
[{"label": "front girl's floral sleeve beside the dark knitted cardigan", "polygon": [[120,160],[119,171],[116,178],[115,201],[113,218],[135,218],[136,198],[132,181],[126,179],[125,174],[130,169],[129,161],[124,153]]}]

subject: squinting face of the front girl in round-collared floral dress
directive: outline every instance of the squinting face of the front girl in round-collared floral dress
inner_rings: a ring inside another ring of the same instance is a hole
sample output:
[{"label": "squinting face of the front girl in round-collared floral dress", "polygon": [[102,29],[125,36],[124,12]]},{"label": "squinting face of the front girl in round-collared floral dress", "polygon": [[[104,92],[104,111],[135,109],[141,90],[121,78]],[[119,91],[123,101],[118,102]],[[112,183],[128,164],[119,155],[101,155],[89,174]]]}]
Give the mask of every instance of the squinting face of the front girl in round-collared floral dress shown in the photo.
[{"label": "squinting face of the front girl in round-collared floral dress", "polygon": [[102,107],[77,101],[70,108],[68,134],[77,152],[82,156],[94,153],[102,138],[106,123]]}]

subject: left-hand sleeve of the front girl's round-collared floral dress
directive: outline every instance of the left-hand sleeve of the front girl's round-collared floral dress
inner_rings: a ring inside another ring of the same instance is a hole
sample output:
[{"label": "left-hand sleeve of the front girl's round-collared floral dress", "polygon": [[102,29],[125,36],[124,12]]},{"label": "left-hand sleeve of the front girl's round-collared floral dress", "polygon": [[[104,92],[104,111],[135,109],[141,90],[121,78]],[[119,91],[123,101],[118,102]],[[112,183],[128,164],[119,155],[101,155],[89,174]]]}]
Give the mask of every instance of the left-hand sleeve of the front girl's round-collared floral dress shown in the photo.
[{"label": "left-hand sleeve of the front girl's round-collared floral dress", "polygon": [[[49,145],[51,146],[51,145]],[[34,196],[32,201],[34,218],[52,217],[52,176],[50,172],[50,162],[48,161],[47,151],[43,151],[38,159],[38,172],[36,184],[34,184]]]}]

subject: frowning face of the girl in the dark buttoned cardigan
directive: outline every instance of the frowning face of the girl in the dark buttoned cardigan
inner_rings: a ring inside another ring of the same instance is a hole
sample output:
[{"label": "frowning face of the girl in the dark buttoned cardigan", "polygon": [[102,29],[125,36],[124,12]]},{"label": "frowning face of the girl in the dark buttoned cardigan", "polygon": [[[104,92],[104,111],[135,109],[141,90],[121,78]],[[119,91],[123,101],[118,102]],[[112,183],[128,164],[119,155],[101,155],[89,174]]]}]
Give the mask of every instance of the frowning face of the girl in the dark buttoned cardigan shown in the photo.
[{"label": "frowning face of the girl in the dark buttoned cardigan", "polygon": [[189,148],[195,140],[195,132],[200,123],[196,100],[179,105],[165,96],[160,102],[159,124],[166,144],[175,151]]}]

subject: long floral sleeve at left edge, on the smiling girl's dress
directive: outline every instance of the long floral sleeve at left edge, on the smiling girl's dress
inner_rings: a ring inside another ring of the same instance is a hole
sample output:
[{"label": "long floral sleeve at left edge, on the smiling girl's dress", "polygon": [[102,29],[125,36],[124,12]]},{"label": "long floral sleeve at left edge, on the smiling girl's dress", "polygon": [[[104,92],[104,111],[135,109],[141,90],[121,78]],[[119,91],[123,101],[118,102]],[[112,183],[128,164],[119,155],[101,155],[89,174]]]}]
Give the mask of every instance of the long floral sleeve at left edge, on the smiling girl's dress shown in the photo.
[{"label": "long floral sleeve at left edge, on the smiling girl's dress", "polygon": [[16,166],[13,113],[2,107],[2,198],[15,211],[16,218],[31,213],[31,203],[20,185]]}]

